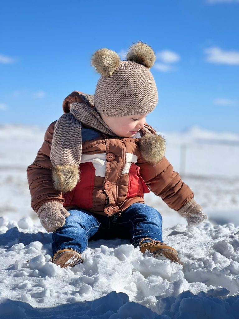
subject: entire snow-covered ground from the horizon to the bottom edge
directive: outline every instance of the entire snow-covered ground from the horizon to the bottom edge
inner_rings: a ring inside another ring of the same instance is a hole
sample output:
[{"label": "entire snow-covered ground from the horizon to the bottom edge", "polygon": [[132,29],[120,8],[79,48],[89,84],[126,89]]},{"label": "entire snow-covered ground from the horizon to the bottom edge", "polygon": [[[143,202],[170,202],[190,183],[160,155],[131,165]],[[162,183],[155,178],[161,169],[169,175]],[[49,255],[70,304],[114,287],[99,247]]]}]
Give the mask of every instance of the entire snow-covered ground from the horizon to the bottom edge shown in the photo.
[{"label": "entire snow-covered ground from the horizon to the bottom edge", "polygon": [[43,136],[37,127],[0,127],[0,319],[238,318],[238,136],[198,128],[165,134],[166,157],[209,216],[188,227],[146,194],[183,265],[116,239],[90,242],[84,263],[64,270],[50,262],[51,234],[30,207],[25,170]]}]

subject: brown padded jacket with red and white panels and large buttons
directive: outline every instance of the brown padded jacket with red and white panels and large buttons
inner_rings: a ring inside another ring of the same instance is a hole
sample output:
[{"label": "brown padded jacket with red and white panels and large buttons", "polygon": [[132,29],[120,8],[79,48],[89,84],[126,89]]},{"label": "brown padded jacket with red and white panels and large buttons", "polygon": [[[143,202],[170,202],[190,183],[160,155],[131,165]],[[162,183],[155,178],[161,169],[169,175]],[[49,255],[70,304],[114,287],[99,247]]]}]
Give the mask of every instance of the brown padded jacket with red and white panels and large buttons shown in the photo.
[{"label": "brown padded jacket with red and white panels and large buttons", "polygon": [[[64,100],[64,112],[69,112],[71,101]],[[165,156],[156,164],[142,158],[140,138],[111,137],[87,125],[82,129],[80,181],[70,192],[55,190],[50,161],[55,123],[47,128],[36,159],[27,167],[34,211],[49,201],[59,201],[68,210],[81,208],[110,216],[134,203],[144,203],[143,194],[150,190],[177,211],[194,196]],[[149,125],[148,129],[154,131]]]}]

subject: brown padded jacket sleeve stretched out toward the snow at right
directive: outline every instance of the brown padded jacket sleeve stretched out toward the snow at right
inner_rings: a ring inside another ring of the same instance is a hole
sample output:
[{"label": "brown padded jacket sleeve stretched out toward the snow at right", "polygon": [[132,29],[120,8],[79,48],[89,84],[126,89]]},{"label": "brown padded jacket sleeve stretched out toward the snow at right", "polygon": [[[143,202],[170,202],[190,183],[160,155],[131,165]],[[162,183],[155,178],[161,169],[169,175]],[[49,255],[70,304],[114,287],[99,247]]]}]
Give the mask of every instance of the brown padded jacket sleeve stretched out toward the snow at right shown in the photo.
[{"label": "brown padded jacket sleeve stretched out toward the snow at right", "polygon": [[156,164],[150,164],[139,156],[137,165],[140,167],[140,175],[148,188],[175,211],[178,211],[194,196],[192,190],[173,170],[165,156]]}]

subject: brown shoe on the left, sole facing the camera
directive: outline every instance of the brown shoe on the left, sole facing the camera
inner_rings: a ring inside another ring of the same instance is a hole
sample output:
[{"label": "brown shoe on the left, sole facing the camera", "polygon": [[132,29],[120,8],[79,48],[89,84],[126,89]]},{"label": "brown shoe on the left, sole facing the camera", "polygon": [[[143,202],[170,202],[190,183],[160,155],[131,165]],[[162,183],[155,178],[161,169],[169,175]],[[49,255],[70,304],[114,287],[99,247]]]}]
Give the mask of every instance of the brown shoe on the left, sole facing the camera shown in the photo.
[{"label": "brown shoe on the left, sole facing the camera", "polygon": [[81,254],[72,248],[60,249],[54,253],[52,263],[60,265],[61,268],[74,267],[78,263],[83,263]]}]

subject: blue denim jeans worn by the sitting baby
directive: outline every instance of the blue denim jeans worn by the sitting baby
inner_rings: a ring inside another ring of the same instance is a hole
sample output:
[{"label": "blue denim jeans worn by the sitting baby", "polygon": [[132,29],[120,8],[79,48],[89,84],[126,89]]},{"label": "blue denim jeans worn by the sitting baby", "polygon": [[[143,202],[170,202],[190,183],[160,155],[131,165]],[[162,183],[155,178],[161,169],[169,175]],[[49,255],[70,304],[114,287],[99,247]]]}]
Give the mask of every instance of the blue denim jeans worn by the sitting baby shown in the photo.
[{"label": "blue denim jeans worn by the sitting baby", "polygon": [[162,240],[162,216],[153,207],[142,203],[129,206],[113,222],[115,216],[102,216],[83,209],[69,210],[64,226],[52,233],[53,253],[72,248],[79,253],[87,248],[88,240],[129,239],[134,247],[149,237]]}]

